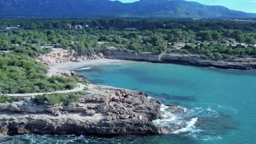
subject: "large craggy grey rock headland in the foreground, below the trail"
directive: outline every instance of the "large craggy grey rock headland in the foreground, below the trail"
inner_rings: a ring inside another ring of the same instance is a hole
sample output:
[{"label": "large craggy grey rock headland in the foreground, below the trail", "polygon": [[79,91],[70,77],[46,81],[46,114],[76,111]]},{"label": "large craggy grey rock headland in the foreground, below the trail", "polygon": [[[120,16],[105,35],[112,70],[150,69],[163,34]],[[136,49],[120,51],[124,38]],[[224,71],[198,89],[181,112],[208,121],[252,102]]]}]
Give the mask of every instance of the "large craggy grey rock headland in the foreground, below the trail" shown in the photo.
[{"label": "large craggy grey rock headland in the foreground, below the trail", "polygon": [[68,106],[39,105],[33,98],[0,104],[0,136],[6,134],[160,134],[152,121],[160,103],[128,89],[89,85],[88,94]]}]

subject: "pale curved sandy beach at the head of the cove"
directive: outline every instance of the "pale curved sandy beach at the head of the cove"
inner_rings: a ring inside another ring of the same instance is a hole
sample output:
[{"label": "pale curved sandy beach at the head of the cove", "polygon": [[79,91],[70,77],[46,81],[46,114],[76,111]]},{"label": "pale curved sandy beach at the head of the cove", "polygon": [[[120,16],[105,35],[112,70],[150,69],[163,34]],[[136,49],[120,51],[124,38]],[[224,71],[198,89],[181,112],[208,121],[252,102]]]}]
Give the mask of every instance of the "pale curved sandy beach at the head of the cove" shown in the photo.
[{"label": "pale curved sandy beach at the head of the cove", "polygon": [[67,63],[57,63],[55,65],[49,66],[50,71],[48,76],[55,74],[59,70],[76,70],[84,67],[95,67],[100,65],[112,65],[112,64],[123,64],[123,63],[134,63],[133,61],[124,61],[119,59],[95,59],[82,62],[67,62]]}]

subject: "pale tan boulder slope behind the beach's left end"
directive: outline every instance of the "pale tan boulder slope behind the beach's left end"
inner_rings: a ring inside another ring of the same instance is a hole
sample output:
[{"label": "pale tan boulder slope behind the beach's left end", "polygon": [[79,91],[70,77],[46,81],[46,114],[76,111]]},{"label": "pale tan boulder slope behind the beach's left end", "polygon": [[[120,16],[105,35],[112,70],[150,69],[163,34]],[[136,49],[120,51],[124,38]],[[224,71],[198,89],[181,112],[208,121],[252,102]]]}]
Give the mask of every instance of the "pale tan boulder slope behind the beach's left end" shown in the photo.
[{"label": "pale tan boulder slope behind the beach's left end", "polygon": [[45,55],[36,57],[36,61],[42,62],[46,65],[54,65],[56,63],[66,63],[66,62],[81,62],[91,59],[101,59],[104,58],[102,53],[94,53],[91,56],[81,56],[79,53],[70,50],[59,50]]}]

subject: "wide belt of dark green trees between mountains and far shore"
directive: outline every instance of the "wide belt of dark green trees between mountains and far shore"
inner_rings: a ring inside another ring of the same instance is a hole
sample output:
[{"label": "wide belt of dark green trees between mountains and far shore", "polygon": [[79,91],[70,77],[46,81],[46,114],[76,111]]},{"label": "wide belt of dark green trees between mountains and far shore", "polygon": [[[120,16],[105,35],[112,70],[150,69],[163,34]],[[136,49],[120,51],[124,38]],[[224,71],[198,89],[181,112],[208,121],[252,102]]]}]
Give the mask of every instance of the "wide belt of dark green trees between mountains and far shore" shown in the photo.
[{"label": "wide belt of dark green trees between mountains and far shore", "polygon": [[[83,29],[69,29],[82,25]],[[19,26],[17,29],[4,29]],[[115,46],[136,52],[195,53],[208,58],[255,56],[256,23],[223,20],[3,20],[0,50],[37,56],[50,49],[39,45],[70,47],[91,55],[97,46]],[[131,31],[132,30],[132,31]],[[98,41],[104,43],[99,44]],[[186,44],[176,49],[177,43]],[[242,44],[242,45],[241,45]],[[246,45],[245,45],[246,44]],[[217,56],[217,57],[214,57]],[[221,55],[221,56],[219,56]]]}]

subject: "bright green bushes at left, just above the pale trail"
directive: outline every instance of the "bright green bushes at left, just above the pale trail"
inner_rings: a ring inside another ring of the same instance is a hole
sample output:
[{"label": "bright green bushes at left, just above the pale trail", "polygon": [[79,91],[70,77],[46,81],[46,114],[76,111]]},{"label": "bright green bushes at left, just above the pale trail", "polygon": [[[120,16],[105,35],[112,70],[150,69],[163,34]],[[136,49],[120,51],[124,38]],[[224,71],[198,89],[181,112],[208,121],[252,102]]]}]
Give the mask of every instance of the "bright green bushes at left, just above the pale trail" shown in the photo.
[{"label": "bright green bushes at left, just above the pale trail", "polygon": [[47,77],[40,62],[18,53],[0,52],[0,87],[2,93],[37,93],[73,89],[79,79]]}]

